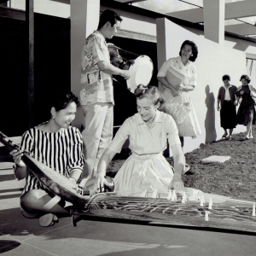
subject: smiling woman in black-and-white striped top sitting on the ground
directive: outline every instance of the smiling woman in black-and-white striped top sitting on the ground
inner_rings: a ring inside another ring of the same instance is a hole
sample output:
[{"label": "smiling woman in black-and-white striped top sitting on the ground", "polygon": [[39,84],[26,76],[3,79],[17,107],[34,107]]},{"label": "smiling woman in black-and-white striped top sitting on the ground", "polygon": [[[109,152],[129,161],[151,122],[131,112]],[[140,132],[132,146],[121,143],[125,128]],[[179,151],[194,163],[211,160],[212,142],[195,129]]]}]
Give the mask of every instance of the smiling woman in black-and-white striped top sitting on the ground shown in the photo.
[{"label": "smiling woman in black-and-white striped top sitting on the ground", "polygon": [[76,182],[84,167],[83,141],[79,129],[71,126],[79,107],[79,99],[72,92],[59,94],[50,109],[49,121],[26,131],[20,150],[10,154],[15,160],[15,177],[26,177],[20,196],[20,210],[26,218],[39,217],[42,226],[54,224],[56,216],[69,215],[66,202],[52,195],[21,160],[26,151],[56,172]]}]

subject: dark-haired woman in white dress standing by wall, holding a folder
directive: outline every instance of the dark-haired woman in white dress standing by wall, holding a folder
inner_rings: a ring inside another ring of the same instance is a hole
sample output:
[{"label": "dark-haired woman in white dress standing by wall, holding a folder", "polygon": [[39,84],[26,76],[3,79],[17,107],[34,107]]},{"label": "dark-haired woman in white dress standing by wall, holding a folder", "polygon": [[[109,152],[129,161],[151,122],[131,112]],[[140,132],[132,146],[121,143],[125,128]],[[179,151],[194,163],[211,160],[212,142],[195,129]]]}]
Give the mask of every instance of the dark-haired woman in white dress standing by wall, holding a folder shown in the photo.
[{"label": "dark-haired woman in white dress standing by wall, holding a folder", "polygon": [[[196,84],[196,68],[192,63],[195,61],[198,55],[198,49],[194,42],[185,40],[181,45],[179,56],[168,59],[157,74],[157,79],[160,81],[159,90],[163,93],[166,103],[164,104],[162,111],[172,114],[170,109],[172,105],[170,103],[179,103],[189,108],[188,114],[183,120],[182,124],[177,124],[178,135],[182,142],[183,137],[196,138],[201,134],[201,127],[195,114],[193,103],[189,96],[189,91],[195,90]],[[172,82],[167,78],[167,72],[173,71],[180,74],[182,81],[180,84]]]}]

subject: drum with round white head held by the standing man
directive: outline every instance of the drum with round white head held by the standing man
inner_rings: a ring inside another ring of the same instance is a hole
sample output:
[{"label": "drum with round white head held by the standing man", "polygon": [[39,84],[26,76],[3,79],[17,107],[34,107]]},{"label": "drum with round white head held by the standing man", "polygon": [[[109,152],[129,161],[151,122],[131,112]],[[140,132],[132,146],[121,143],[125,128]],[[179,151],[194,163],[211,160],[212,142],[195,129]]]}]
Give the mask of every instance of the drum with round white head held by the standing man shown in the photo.
[{"label": "drum with round white head held by the standing man", "polygon": [[[128,70],[130,73],[131,77],[127,80],[120,76],[113,76],[119,84],[126,84],[127,89],[132,93],[136,90],[137,85],[149,84],[153,74],[153,61],[147,55],[137,55],[110,43],[108,51],[113,66]],[[131,59],[128,59],[129,56]]]}]

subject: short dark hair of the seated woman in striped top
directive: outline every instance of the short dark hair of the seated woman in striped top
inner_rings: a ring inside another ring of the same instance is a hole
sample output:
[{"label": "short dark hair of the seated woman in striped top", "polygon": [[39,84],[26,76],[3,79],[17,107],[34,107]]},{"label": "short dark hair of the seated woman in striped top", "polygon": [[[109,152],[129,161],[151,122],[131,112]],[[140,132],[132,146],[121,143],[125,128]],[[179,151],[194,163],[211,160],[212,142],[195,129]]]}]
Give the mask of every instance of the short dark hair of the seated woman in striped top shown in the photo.
[{"label": "short dark hair of the seated woman in striped top", "polygon": [[55,97],[52,99],[51,108],[54,107],[56,111],[60,111],[67,108],[67,105],[71,102],[75,102],[77,108],[80,107],[79,98],[72,91],[61,92],[55,94]]}]

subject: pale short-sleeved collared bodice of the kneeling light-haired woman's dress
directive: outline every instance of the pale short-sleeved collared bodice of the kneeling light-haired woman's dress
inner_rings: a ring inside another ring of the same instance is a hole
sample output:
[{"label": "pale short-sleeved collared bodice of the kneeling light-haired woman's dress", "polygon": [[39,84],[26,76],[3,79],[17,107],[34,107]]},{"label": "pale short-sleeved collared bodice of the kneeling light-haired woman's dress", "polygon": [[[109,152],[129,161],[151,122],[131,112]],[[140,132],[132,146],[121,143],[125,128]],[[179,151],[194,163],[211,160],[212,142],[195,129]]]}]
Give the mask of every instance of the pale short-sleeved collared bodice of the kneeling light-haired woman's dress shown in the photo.
[{"label": "pale short-sleeved collared bodice of the kneeling light-haired woman's dress", "polygon": [[177,125],[172,116],[158,110],[150,129],[139,113],[126,119],[108,148],[119,153],[127,138],[129,138],[131,151],[140,155],[163,152],[166,149],[167,138],[171,148],[181,144]]}]

